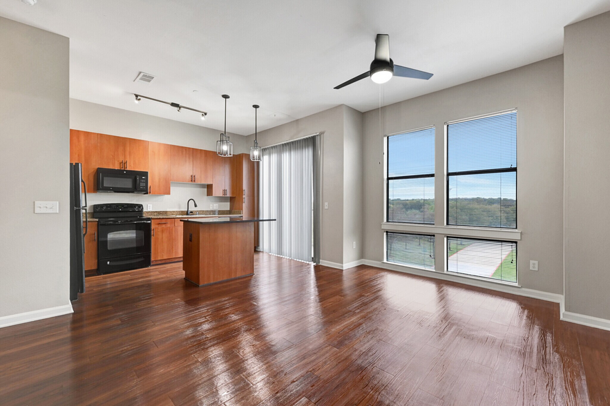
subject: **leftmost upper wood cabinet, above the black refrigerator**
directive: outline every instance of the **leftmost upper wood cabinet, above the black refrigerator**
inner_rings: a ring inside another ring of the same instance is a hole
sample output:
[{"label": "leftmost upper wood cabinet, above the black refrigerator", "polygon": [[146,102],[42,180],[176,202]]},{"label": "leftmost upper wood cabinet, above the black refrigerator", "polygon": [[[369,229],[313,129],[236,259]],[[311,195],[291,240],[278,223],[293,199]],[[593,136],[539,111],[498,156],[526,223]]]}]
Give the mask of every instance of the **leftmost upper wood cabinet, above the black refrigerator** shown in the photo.
[{"label": "leftmost upper wood cabinet, above the black refrigerator", "polygon": [[97,133],[70,130],[70,162],[82,164],[87,193],[95,193],[97,173]]}]

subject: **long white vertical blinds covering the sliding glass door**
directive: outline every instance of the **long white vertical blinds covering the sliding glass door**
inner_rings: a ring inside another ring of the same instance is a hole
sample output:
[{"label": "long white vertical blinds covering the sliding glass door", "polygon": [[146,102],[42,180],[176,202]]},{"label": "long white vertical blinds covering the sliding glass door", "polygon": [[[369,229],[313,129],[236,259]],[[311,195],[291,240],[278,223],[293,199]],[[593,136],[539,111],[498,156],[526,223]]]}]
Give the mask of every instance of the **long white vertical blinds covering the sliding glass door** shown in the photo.
[{"label": "long white vertical blinds covering the sliding glass door", "polygon": [[262,148],[260,250],[312,262],[315,137]]}]

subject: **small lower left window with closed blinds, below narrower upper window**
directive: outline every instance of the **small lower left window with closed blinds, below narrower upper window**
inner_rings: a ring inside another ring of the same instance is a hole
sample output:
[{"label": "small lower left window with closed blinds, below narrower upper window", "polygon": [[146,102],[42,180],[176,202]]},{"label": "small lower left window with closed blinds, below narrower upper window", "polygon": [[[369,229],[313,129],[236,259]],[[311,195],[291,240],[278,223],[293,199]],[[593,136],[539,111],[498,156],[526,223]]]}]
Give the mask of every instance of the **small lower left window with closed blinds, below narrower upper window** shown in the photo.
[{"label": "small lower left window with closed blinds, below narrower upper window", "polygon": [[434,235],[385,234],[385,258],[388,262],[435,269]]}]

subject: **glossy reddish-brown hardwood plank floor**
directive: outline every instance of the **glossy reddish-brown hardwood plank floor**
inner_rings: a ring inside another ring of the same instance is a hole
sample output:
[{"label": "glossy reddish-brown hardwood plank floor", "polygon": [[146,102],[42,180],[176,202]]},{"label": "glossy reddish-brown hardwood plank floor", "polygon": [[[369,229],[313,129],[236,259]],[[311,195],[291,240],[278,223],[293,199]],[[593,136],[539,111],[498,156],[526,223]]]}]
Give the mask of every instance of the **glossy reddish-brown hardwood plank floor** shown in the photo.
[{"label": "glossy reddish-brown hardwood plank floor", "polygon": [[257,253],[86,279],[75,313],[0,329],[2,405],[609,405],[610,332],[557,305]]}]

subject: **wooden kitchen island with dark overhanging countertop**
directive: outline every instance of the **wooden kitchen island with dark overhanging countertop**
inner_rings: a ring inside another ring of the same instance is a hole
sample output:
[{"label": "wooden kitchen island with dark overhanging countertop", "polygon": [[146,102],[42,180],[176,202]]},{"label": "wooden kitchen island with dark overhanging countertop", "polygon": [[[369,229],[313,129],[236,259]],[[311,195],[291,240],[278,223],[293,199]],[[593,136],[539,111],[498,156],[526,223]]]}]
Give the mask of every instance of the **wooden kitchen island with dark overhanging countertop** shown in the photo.
[{"label": "wooden kitchen island with dark overhanging countertop", "polygon": [[254,275],[254,223],[259,218],[193,218],[182,233],[184,279],[198,286]]}]

